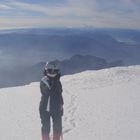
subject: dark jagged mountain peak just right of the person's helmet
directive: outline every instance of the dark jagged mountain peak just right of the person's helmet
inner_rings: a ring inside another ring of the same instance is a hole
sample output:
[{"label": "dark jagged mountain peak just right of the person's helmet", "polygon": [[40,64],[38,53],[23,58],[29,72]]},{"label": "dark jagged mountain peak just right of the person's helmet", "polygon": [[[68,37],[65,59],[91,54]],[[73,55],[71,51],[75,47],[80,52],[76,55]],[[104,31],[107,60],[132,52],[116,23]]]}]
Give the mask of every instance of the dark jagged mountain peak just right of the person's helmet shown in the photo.
[{"label": "dark jagged mountain peak just right of the person's helmet", "polygon": [[74,55],[70,59],[58,61],[58,63],[63,75],[85,70],[98,70],[108,66],[105,59],[91,55]]}]

